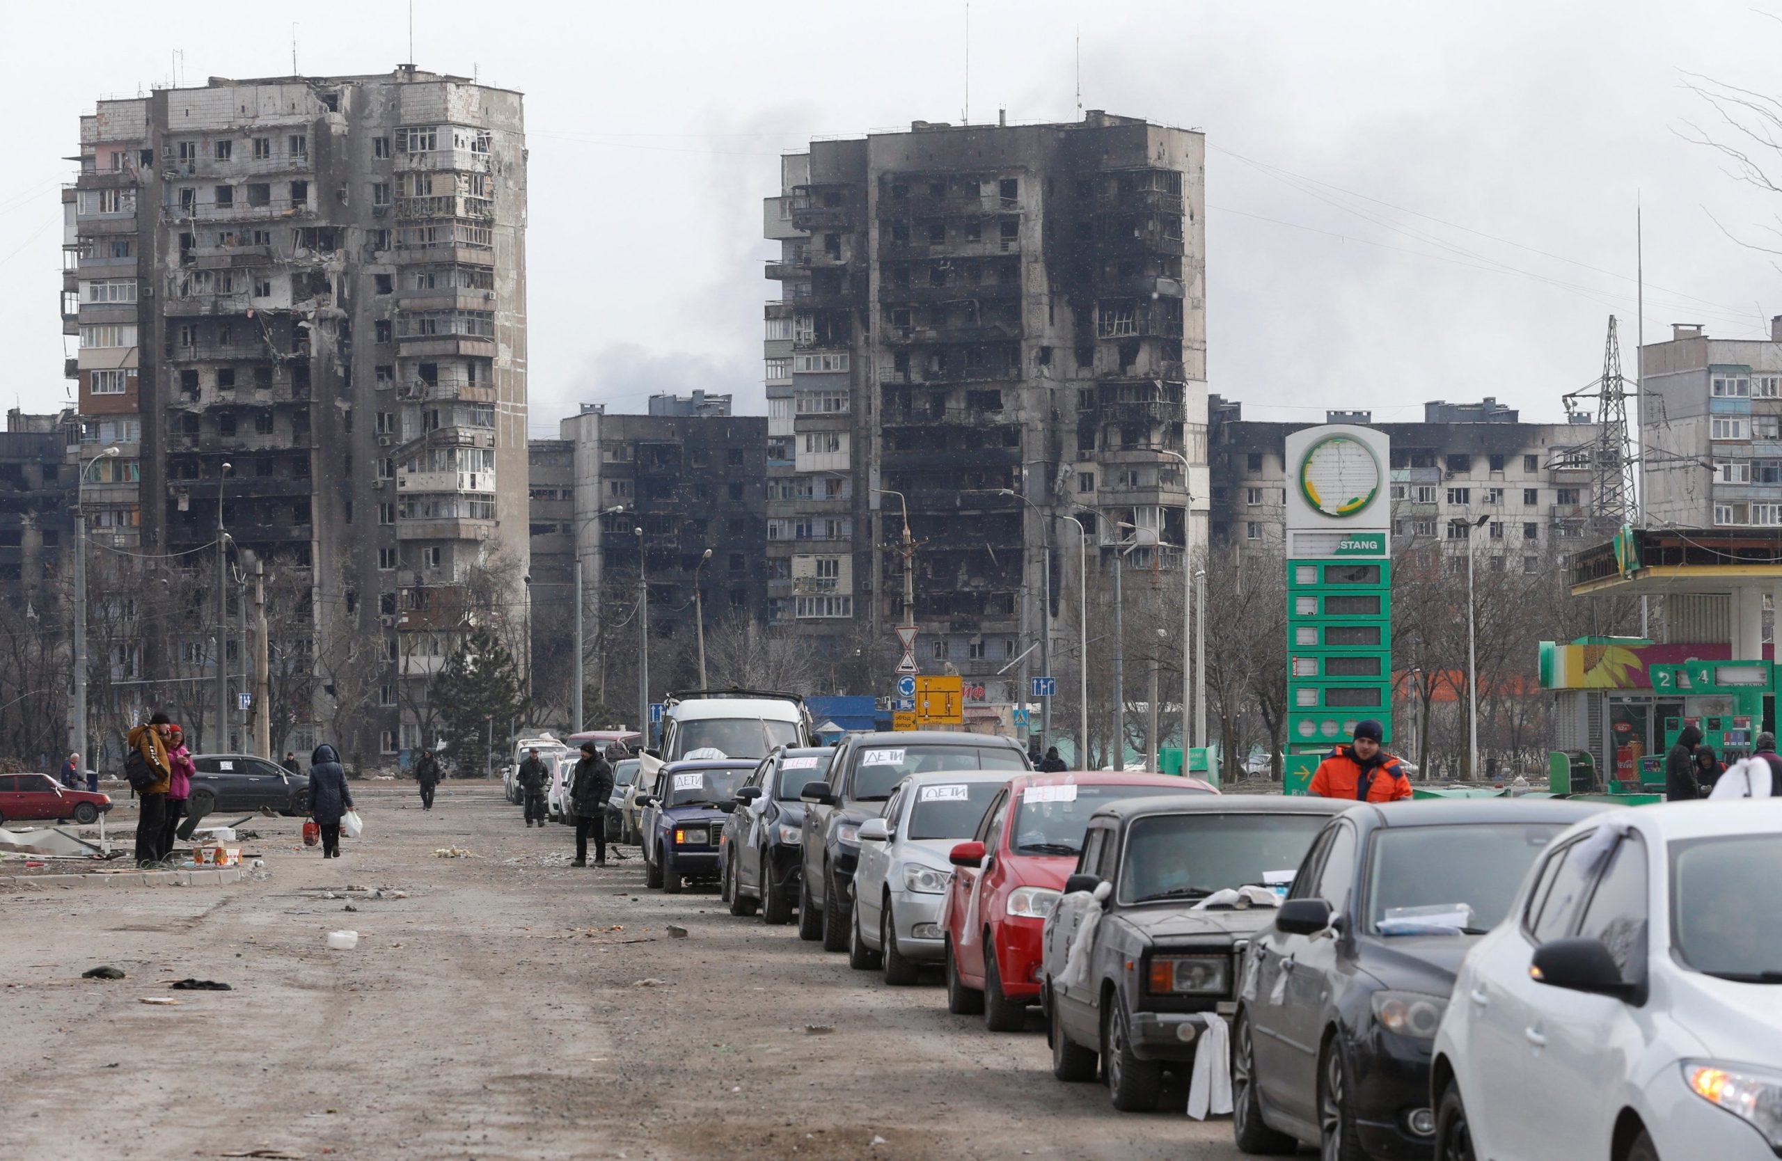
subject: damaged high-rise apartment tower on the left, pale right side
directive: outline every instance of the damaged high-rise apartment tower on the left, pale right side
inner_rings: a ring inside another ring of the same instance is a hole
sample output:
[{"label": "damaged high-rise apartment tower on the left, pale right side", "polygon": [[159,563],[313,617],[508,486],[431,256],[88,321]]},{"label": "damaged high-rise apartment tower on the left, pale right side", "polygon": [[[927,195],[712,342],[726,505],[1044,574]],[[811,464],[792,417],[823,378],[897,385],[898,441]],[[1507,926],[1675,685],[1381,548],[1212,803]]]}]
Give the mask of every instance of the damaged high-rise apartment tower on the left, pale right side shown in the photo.
[{"label": "damaged high-rise apartment tower on the left, pale right side", "polygon": [[497,556],[526,572],[520,94],[403,64],[102,100],[69,203],[82,442],[141,459],[112,518],[208,577],[221,507],[232,561],[299,575],[290,664],[315,684],[290,746],[419,744],[401,684],[458,625],[406,614],[463,609]]}]

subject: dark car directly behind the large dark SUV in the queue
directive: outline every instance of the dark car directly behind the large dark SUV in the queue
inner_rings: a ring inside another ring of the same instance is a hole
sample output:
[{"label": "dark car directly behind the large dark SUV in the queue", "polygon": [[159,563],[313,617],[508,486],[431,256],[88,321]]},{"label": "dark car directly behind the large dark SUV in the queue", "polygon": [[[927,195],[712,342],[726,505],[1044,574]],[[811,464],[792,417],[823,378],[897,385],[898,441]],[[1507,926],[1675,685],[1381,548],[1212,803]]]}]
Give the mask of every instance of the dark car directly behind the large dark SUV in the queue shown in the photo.
[{"label": "dark car directly behind the large dark SUV in the queue", "polygon": [[[779,746],[736,791],[718,848],[723,899],[732,915],[754,915],[772,924],[791,922],[798,890],[798,842],[804,837],[805,783],[829,773],[836,751]],[[720,810],[725,807],[720,807]]]}]

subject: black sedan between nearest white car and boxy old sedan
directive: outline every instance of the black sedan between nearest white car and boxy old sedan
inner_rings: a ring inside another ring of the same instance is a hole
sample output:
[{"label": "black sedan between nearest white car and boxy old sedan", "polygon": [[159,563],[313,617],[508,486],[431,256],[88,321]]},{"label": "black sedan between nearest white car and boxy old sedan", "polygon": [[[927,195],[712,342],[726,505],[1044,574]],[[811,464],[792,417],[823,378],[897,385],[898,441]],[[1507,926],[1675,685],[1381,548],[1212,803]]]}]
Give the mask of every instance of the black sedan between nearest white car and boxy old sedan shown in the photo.
[{"label": "black sedan between nearest white car and boxy old sedan", "polygon": [[1602,807],[1353,807],[1312,844],[1244,960],[1231,1127],[1251,1154],[1429,1157],[1429,1061],[1454,972],[1549,839]]}]

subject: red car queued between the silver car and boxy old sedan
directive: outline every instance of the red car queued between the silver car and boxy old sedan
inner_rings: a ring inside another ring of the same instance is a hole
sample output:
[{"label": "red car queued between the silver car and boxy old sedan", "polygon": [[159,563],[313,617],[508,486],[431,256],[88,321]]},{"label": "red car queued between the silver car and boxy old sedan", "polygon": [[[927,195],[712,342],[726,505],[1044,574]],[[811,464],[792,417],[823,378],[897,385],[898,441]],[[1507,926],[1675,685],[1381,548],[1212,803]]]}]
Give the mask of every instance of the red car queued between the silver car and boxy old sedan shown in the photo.
[{"label": "red car queued between the silver car and boxy old sedan", "polygon": [[1116,771],[1012,778],[984,812],[977,839],[950,855],[941,910],[946,1010],[982,1011],[991,1031],[1021,1031],[1028,1004],[1039,1003],[1046,915],[1076,871],[1089,816],[1110,801],[1169,792],[1219,791],[1199,778]]}]

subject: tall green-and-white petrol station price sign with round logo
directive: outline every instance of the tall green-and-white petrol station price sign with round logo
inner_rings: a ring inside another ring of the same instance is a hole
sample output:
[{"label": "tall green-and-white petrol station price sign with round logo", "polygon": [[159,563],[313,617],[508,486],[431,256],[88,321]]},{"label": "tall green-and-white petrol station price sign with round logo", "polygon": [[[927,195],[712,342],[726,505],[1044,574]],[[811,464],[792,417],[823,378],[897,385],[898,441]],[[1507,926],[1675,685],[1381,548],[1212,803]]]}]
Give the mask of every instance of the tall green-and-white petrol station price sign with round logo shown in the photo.
[{"label": "tall green-and-white petrol station price sign with round logo", "polygon": [[1354,723],[1392,743],[1392,445],[1349,424],[1287,436],[1287,775],[1312,771]]}]

